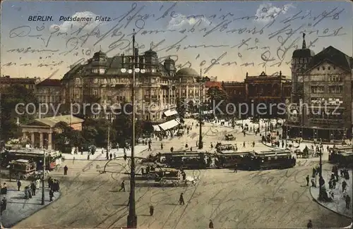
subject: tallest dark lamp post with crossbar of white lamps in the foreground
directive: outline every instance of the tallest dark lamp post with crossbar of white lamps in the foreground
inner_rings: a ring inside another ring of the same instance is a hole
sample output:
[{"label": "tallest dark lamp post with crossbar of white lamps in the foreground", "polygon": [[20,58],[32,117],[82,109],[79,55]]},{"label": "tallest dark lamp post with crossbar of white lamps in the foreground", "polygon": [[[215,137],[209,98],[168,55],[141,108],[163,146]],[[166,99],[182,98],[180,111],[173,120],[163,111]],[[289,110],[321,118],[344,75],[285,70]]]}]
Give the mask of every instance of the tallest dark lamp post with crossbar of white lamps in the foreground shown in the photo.
[{"label": "tallest dark lamp post with crossbar of white lamps in the foreground", "polygon": [[[131,171],[130,171],[130,195],[128,202],[128,222],[127,228],[137,228],[137,215],[135,207],[135,125],[136,125],[136,104],[135,104],[135,87],[136,87],[136,73],[145,73],[145,69],[136,68],[136,50],[135,50],[135,30],[133,30],[133,63],[132,69],[128,69],[128,74],[133,74],[131,102],[132,102],[132,137],[131,137]],[[126,68],[121,68],[121,73],[126,73]]]}]

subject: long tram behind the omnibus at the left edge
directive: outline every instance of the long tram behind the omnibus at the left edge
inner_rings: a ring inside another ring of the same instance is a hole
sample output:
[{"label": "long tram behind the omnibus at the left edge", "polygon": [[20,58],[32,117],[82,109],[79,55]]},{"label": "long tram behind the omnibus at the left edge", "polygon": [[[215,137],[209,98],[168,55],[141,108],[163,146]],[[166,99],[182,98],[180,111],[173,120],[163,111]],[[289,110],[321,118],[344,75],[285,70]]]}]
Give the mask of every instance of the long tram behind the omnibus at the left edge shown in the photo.
[{"label": "long tram behind the omnibus at the left edge", "polygon": [[[18,148],[4,150],[1,154],[1,166],[8,166],[13,160],[24,159],[36,163],[36,168],[42,170],[44,156],[43,149]],[[45,151],[45,163],[47,170],[51,171],[61,163],[61,153],[59,151]]]}]

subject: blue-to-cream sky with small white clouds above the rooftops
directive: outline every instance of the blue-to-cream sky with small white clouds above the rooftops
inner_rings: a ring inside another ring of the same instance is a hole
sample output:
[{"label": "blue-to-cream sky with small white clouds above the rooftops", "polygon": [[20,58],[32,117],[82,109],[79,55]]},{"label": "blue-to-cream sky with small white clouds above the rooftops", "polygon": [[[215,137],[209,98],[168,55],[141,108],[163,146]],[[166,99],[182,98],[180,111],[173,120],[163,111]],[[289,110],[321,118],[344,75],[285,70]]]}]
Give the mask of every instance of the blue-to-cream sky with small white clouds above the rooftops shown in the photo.
[{"label": "blue-to-cream sky with small white clouds above the rooftops", "polygon": [[[76,16],[92,21],[59,21]],[[97,16],[111,21],[95,21]],[[352,27],[349,1],[6,1],[1,74],[62,78],[100,49],[107,56],[131,54],[135,29],[140,52],[152,47],[161,61],[171,56],[179,68],[202,68],[218,80],[243,80],[246,72],[290,75],[303,32],[315,53],[332,45],[352,56]]]}]

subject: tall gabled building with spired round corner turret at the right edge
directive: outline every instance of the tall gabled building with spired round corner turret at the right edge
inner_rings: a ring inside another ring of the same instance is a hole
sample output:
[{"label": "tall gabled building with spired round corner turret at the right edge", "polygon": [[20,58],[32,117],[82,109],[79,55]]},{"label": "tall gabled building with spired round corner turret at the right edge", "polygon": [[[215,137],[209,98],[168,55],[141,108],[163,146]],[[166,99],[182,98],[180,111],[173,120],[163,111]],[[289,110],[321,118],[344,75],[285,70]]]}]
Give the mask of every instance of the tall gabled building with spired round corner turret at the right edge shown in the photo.
[{"label": "tall gabled building with spired round corner turret at the right edge", "polygon": [[331,46],[314,55],[303,38],[292,56],[292,104],[284,129],[289,137],[350,138],[353,58]]}]

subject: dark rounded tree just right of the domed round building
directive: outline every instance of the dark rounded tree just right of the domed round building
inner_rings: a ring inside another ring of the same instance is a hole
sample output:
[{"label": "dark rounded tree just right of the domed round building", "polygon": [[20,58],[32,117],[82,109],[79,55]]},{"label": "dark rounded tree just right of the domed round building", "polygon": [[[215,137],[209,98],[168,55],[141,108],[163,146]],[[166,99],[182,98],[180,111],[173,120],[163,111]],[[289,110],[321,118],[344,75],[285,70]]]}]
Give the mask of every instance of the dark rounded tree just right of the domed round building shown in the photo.
[{"label": "dark rounded tree just right of the domed round building", "polygon": [[225,93],[224,90],[220,89],[219,87],[210,87],[207,91],[207,97],[210,99],[210,107],[215,110],[215,115],[220,114],[220,111],[218,109],[215,109],[213,107],[213,104],[217,106],[220,104],[220,106],[217,106],[222,113],[227,113],[227,102],[228,102],[228,96]]}]

